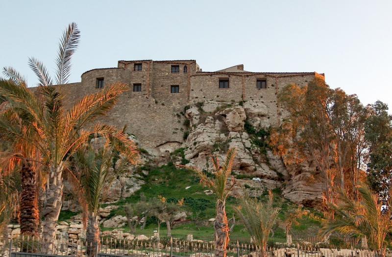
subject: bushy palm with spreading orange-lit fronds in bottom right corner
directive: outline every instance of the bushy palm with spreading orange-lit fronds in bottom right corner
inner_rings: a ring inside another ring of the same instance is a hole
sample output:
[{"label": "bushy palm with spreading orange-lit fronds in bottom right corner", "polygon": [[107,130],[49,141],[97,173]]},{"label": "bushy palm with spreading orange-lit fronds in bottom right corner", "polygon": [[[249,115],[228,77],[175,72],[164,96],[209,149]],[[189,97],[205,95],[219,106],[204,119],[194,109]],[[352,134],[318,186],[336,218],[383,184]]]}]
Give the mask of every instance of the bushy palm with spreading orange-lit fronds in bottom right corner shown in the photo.
[{"label": "bushy palm with spreading orange-lit fronds in bottom right corner", "polygon": [[357,189],[358,200],[345,191],[340,192],[339,204],[331,206],[336,213],[335,218],[320,229],[319,235],[324,237],[334,231],[346,236],[362,235],[372,249],[381,251],[385,256],[386,237],[392,231],[392,194],[388,198],[388,208],[384,208],[378,194],[373,193],[368,185],[359,184]]}]

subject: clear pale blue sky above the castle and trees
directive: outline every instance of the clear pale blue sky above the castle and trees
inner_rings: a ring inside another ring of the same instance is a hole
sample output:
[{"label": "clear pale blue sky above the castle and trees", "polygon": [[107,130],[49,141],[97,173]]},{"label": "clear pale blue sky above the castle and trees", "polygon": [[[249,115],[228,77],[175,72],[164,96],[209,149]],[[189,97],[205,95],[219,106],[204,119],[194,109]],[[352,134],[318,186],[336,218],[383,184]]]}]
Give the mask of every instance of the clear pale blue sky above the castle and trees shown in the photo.
[{"label": "clear pale blue sky above the castle and trees", "polygon": [[324,72],[332,88],[392,108],[391,0],[0,0],[0,9],[0,67],[29,86],[27,57],[54,71],[61,33],[76,22],[71,82],[118,60],[196,59],[204,71]]}]

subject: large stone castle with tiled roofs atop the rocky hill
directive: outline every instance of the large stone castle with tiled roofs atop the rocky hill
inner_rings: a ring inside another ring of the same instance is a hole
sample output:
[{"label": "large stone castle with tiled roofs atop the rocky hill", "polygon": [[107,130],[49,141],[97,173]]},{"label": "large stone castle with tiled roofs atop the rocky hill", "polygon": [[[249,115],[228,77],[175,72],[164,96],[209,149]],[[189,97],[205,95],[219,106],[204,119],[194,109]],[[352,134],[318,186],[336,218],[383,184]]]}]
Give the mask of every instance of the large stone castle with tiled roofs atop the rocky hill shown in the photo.
[{"label": "large stone castle with tiled roofs atop the rocky hill", "polygon": [[163,151],[183,142],[184,107],[204,101],[241,102],[258,100],[268,108],[269,125],[281,116],[276,95],[283,86],[305,86],[317,72],[250,72],[244,65],[218,71],[202,71],[195,60],[118,61],[117,68],[93,69],[81,75],[81,82],[62,85],[66,106],[82,96],[121,81],[129,91],[121,96],[105,123],[127,126],[142,147]]}]

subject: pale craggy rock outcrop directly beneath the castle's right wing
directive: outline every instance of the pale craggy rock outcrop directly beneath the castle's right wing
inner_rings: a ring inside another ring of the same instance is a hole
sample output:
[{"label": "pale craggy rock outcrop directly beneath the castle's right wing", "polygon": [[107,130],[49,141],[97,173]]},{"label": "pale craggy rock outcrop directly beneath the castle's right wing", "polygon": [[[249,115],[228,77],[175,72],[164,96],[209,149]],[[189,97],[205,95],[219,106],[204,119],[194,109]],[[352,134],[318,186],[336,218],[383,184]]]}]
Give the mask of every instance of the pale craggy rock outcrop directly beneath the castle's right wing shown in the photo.
[{"label": "pale craggy rock outcrop directly beneath the castle's right wing", "polygon": [[[206,101],[191,106],[185,117],[189,135],[183,143],[189,166],[212,171],[211,154],[223,159],[227,149],[236,148],[233,171],[241,179],[234,190],[241,195],[246,187],[251,194],[281,188],[283,195],[305,206],[317,206],[322,199],[322,183],[315,177],[315,168],[306,164],[293,165],[276,156],[268,147],[267,138],[254,131],[268,131],[268,107],[261,100],[243,103]],[[253,128],[253,134],[245,130]],[[252,180],[257,178],[257,180]],[[246,185],[246,186],[245,186]]]}]

